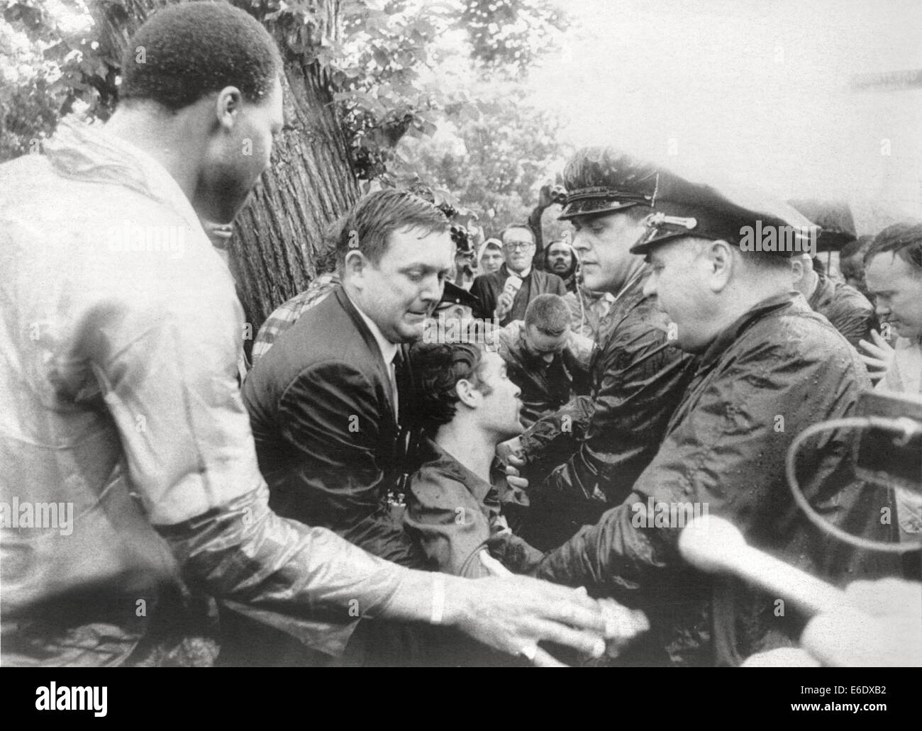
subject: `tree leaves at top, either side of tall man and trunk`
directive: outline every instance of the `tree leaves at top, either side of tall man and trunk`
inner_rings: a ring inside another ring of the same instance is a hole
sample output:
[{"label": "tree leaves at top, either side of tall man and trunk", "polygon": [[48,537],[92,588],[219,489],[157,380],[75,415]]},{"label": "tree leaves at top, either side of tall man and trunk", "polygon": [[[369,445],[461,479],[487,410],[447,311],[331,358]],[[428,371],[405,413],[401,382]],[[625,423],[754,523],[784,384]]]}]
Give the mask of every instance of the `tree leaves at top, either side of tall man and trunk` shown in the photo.
[{"label": "tree leaves at top, either side of tall man and trunk", "polygon": [[[110,17],[125,17],[126,1],[94,6],[93,16],[104,9]],[[418,169],[437,173],[450,190],[458,185],[465,205],[512,210],[526,199],[548,155],[537,140],[553,125],[540,115],[516,120],[519,104],[479,99],[483,79],[471,83],[463,72],[446,74],[441,46],[462,46],[483,73],[519,77],[564,27],[549,0],[232,1],[275,32],[288,63],[313,67],[324,79],[360,179],[393,185],[416,177],[398,143],[430,137],[448,121],[460,125],[472,152],[438,164],[427,159]],[[99,33],[84,0],[6,0],[0,24],[0,159],[34,147],[71,110],[103,119],[112,112],[119,65],[112,49],[100,46]],[[465,60],[456,48],[447,57],[454,65]],[[514,144],[515,135],[526,136],[524,144]],[[489,153],[477,153],[480,141],[490,146]],[[452,165],[466,171],[449,174]],[[475,174],[471,166],[483,171]]]}]

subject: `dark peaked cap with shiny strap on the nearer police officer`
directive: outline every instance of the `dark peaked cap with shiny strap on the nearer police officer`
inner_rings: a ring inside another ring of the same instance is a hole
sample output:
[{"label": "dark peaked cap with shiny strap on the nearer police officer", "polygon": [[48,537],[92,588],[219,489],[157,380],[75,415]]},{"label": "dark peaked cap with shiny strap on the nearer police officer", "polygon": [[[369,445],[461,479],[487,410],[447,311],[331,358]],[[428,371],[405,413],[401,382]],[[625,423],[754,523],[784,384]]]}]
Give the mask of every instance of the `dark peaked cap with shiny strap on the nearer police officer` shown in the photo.
[{"label": "dark peaked cap with shiny strap on the nearer police officer", "polygon": [[788,258],[816,251],[820,227],[784,201],[753,189],[717,190],[661,171],[654,209],[631,253],[645,254],[657,244],[686,236]]}]

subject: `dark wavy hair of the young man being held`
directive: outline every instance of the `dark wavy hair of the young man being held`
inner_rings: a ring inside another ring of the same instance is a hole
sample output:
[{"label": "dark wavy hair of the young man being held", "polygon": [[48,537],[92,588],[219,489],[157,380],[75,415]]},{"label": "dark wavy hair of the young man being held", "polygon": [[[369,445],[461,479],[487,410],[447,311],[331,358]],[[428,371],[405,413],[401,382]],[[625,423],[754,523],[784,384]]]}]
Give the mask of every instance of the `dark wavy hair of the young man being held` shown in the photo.
[{"label": "dark wavy hair of the young man being held", "polygon": [[433,433],[455,419],[460,398],[455,386],[467,380],[484,395],[492,389],[479,378],[483,349],[474,343],[426,343],[418,341],[410,348],[410,360],[416,375],[417,406],[423,429]]}]

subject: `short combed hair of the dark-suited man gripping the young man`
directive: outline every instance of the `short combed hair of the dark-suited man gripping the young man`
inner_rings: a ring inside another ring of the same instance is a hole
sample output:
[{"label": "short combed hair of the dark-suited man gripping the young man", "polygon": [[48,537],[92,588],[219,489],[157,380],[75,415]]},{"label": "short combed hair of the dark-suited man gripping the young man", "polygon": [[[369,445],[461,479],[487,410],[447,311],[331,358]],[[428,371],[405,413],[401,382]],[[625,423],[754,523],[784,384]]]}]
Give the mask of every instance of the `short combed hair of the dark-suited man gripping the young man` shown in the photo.
[{"label": "short combed hair of the dark-suited man gripping the young man", "polygon": [[448,218],[437,207],[405,190],[383,190],[366,195],[346,214],[337,241],[337,265],[351,251],[365,254],[377,266],[396,230],[414,229],[423,235],[443,233]]}]

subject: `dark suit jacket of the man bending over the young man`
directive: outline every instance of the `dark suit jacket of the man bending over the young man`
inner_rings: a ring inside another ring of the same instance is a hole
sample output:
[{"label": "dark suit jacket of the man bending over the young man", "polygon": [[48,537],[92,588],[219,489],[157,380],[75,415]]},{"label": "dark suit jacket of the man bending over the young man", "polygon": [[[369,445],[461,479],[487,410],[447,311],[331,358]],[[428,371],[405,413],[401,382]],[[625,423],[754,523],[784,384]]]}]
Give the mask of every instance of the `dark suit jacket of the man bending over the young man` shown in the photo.
[{"label": "dark suit jacket of the man bending over the young man", "polygon": [[[388,366],[342,288],[256,362],[243,402],[273,510],[384,559],[423,564],[387,504],[398,475]],[[412,409],[402,400],[400,410]]]}]

